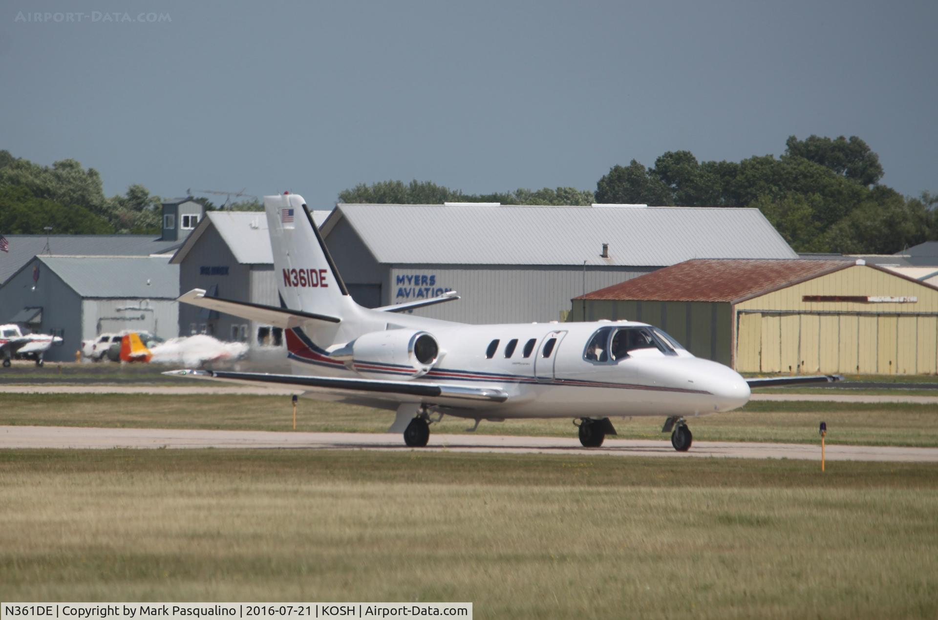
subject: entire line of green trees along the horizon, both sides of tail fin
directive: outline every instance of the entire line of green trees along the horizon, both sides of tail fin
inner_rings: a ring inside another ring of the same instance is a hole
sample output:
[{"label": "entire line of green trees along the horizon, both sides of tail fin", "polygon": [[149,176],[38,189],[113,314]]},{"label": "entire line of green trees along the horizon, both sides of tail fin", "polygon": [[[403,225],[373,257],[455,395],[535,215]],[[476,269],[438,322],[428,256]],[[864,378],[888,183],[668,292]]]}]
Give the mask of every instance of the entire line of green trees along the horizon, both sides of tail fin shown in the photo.
[{"label": "entire line of green trees along the horizon, both sides of tail fin", "polygon": [[[431,181],[360,183],[339,194],[342,203],[592,203],[748,206],[760,209],[796,251],[892,253],[938,239],[938,194],[902,196],[882,183],[883,166],[868,144],[853,136],[792,136],[785,152],[740,161],[699,161],[689,151],[668,151],[645,167],[632,159],[615,165],[595,191],[576,188],[465,193]],[[196,198],[206,209],[216,205]],[[160,198],[143,185],[104,195],[100,174],[75,159],[42,166],[0,150],[0,233],[159,234]],[[259,210],[257,201],[227,205]]]}]

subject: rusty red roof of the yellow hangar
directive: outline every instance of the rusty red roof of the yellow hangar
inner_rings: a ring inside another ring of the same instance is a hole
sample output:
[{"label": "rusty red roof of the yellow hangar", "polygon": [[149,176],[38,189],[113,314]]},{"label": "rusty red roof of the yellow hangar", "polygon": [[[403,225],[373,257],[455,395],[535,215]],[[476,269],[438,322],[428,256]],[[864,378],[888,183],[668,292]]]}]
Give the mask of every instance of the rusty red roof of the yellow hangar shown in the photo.
[{"label": "rusty red roof of the yellow hangar", "polygon": [[853,265],[845,260],[695,259],[576,298],[738,303]]}]

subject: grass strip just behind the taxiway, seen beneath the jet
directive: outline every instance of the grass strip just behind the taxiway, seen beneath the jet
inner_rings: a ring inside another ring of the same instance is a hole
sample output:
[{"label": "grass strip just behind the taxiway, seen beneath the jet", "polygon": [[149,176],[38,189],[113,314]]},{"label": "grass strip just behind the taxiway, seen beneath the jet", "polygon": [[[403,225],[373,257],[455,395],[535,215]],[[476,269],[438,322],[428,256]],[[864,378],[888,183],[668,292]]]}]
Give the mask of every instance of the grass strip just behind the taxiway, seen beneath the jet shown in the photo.
[{"label": "grass strip just behind the taxiway, seen beneath the jet", "polygon": [[[300,399],[297,431],[383,432],[393,413]],[[817,442],[827,423],[829,444],[938,446],[938,405],[750,402],[729,414],[688,420],[696,441]],[[620,438],[667,439],[660,417],[614,419]],[[98,426],[165,429],[290,431],[293,408],[286,396],[0,395],[0,426]],[[446,417],[432,432],[464,432],[467,420]],[[487,434],[575,437],[571,419],[482,422]]]}]

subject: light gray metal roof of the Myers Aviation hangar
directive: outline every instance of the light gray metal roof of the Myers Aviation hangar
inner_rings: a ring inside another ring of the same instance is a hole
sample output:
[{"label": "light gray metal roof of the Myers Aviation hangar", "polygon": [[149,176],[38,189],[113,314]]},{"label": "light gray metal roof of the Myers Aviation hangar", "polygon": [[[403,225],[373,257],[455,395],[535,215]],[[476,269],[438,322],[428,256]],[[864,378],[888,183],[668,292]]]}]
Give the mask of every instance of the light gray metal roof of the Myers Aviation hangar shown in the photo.
[{"label": "light gray metal roof of the Myers Aviation hangar", "polygon": [[[758,209],[339,204],[379,263],[675,265],[693,258],[797,258]],[[609,258],[600,256],[609,244]]]}]

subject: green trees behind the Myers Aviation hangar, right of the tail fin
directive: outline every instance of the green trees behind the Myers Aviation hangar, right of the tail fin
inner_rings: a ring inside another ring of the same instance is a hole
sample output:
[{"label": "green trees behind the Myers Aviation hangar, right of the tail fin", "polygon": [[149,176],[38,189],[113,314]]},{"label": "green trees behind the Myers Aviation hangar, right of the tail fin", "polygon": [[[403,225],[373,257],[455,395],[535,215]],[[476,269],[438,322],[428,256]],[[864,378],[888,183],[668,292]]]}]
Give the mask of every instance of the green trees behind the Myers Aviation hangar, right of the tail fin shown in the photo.
[{"label": "green trees behind the Myers Aviation hangar, right of the tail fin", "polygon": [[796,251],[893,253],[938,239],[938,195],[904,197],[880,183],[879,156],[852,136],[791,136],[779,158],[698,161],[668,151],[645,167],[613,166],[597,189],[517,189],[467,194],[429,181],[383,181],[340,192],[343,203],[650,204],[760,209]]}]

